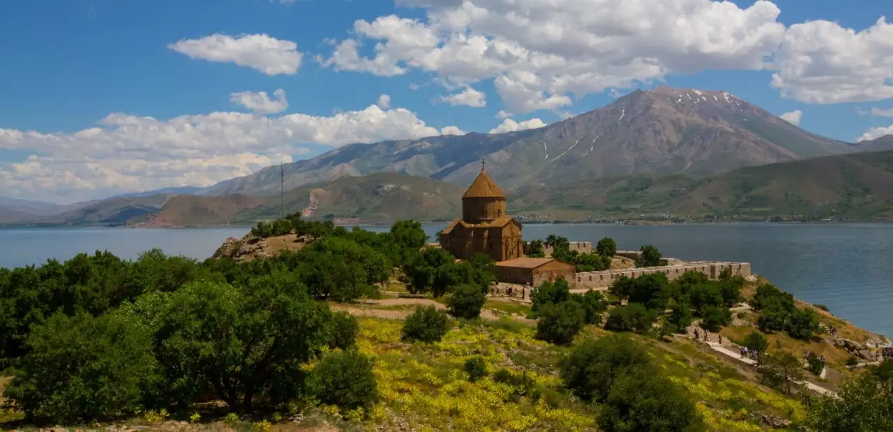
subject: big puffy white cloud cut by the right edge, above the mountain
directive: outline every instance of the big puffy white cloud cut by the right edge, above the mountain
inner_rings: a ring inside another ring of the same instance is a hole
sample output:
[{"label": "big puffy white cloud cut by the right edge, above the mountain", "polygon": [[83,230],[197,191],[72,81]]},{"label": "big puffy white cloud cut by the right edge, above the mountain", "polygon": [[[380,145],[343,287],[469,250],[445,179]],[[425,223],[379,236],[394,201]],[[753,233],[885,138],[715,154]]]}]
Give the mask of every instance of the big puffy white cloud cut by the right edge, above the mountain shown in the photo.
[{"label": "big puffy white cloud cut by the right edge, above the mountain", "polygon": [[790,26],[774,54],[772,86],[811,104],[893,97],[893,24],[883,17],[862,31],[836,22]]}]

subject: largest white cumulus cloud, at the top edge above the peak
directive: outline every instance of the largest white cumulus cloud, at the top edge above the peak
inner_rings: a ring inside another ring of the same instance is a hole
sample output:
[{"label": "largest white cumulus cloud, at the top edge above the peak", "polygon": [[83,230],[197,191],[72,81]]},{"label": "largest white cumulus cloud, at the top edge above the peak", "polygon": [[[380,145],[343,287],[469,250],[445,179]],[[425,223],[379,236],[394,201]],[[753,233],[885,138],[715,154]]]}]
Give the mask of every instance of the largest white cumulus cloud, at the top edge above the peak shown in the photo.
[{"label": "largest white cumulus cloud, at the top edge above the peak", "polygon": [[[381,76],[416,69],[467,86],[493,79],[513,112],[633,87],[669,71],[760,70],[785,34],[779,8],[710,0],[400,0],[425,20],[356,21],[320,62]],[[363,56],[363,43],[373,54]]]}]

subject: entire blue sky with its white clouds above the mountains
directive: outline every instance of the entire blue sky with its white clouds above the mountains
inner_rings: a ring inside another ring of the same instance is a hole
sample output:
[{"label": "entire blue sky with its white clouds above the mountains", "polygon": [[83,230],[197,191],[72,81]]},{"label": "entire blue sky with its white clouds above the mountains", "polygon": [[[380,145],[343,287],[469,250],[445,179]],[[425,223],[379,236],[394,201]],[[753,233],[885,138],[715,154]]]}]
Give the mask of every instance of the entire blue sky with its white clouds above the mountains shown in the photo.
[{"label": "entire blue sky with its white clouds above the mountains", "polygon": [[2,2],[0,195],[207,186],[349,142],[539,126],[657,84],[847,141],[893,133],[886,2],[553,3]]}]

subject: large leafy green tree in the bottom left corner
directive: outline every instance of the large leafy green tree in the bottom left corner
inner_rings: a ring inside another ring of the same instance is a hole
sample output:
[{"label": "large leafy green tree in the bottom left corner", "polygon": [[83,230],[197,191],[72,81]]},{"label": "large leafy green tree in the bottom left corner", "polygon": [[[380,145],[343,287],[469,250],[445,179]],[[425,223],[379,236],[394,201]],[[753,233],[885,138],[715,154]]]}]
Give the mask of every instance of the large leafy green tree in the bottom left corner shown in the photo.
[{"label": "large leafy green tree in the bottom left corner", "polygon": [[28,348],[4,397],[32,420],[133,414],[159,385],[151,335],[120,315],[58,312],[33,329]]}]

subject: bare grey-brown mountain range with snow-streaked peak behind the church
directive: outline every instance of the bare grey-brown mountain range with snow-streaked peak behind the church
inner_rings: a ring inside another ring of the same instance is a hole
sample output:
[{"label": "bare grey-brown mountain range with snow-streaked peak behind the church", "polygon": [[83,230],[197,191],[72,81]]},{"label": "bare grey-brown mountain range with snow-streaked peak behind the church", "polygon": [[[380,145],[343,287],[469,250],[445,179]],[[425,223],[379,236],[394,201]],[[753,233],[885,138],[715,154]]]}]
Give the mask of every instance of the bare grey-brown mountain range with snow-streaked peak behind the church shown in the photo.
[{"label": "bare grey-brown mountain range with snow-streaked peak behind the church", "polygon": [[[722,91],[657,87],[541,129],[345,145],[283,166],[286,190],[379,171],[468,184],[488,173],[508,188],[658,172],[704,177],[743,166],[858,151]],[[200,195],[275,195],[279,167]]]}]

